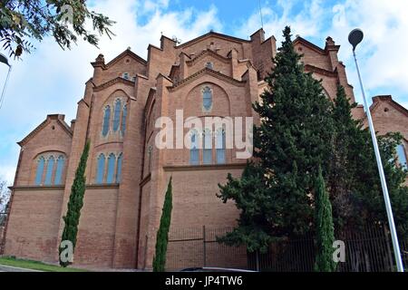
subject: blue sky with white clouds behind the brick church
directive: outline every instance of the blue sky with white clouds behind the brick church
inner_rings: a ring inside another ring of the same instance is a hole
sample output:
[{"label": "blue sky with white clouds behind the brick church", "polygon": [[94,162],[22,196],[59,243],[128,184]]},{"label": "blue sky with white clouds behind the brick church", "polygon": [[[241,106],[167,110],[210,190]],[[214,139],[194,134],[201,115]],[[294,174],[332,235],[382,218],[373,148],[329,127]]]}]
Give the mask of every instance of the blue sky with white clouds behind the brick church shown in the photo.
[{"label": "blue sky with white clouds behind the brick church", "polygon": [[[230,0],[93,0],[92,10],[109,15],[117,23],[111,40],[103,37],[100,49],[78,43],[63,51],[45,38],[36,51],[13,62],[14,68],[0,110],[0,179],[13,182],[18,160],[17,141],[44,121],[47,114],[63,113],[69,123],[83,96],[84,82],[92,76],[91,62],[99,53],[111,60],[131,46],[146,58],[149,43],[159,45],[160,34],[177,36],[182,42],[213,29],[248,39],[260,27],[259,3]],[[392,3],[392,5],[390,5]],[[364,30],[364,45],[358,56],[369,96],[392,94],[408,107],[408,11],[406,0],[260,0],[267,37],[281,40],[285,25],[293,34],[324,47],[330,35],[341,44],[339,58],[346,64],[349,82],[362,102],[347,35],[351,29]],[[2,52],[0,49],[0,53]],[[6,67],[0,67],[3,85]]]}]

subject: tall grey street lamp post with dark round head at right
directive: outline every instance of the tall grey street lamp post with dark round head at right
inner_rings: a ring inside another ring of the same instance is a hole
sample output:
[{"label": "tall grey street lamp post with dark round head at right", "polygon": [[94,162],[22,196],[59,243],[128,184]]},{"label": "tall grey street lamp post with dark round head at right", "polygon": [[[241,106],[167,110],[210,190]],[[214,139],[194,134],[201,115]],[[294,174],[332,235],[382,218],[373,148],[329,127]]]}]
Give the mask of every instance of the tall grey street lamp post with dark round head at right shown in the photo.
[{"label": "tall grey street lamp post with dark round head at right", "polygon": [[377,160],[378,172],[380,173],[381,186],[383,188],[383,194],[384,194],[385,208],[387,210],[387,217],[388,217],[388,223],[390,226],[391,237],[393,239],[393,254],[395,256],[395,261],[397,264],[398,272],[403,272],[403,260],[401,258],[401,251],[400,251],[400,246],[398,243],[398,237],[397,237],[397,233],[395,229],[395,224],[393,222],[393,208],[391,208],[390,196],[388,194],[387,183],[386,183],[385,175],[384,175],[383,162],[381,161],[380,150],[378,149],[378,142],[375,136],[374,124],[373,124],[373,119],[371,117],[370,107],[368,106],[367,99],[365,98],[364,86],[363,86],[363,81],[361,79],[360,69],[357,63],[357,57],[355,56],[355,48],[357,47],[359,43],[363,41],[363,38],[364,38],[363,31],[361,31],[360,29],[355,29],[348,35],[348,42],[353,45],[353,55],[355,57],[355,67],[357,68],[358,80],[360,81],[361,92],[363,93],[365,113],[367,114],[368,125],[370,127],[370,132],[371,132],[371,138],[373,139],[375,159]]}]

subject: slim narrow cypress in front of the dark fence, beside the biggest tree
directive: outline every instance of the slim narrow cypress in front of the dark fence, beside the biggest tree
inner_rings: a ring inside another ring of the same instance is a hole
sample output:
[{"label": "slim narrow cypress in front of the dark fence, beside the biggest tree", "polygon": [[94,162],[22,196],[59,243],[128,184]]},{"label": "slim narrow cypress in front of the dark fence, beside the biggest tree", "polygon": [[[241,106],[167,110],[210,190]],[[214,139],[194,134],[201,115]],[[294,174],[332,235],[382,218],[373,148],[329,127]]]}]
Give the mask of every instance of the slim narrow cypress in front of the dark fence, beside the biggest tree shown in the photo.
[{"label": "slim narrow cypress in front of the dark fence, beside the biggest tree", "polygon": [[335,227],[333,225],[332,205],[325,190],[325,179],[322,169],[316,179],[315,194],[316,211],[316,263],[317,272],[334,272],[336,263],[333,260],[333,243],[335,242]]}]

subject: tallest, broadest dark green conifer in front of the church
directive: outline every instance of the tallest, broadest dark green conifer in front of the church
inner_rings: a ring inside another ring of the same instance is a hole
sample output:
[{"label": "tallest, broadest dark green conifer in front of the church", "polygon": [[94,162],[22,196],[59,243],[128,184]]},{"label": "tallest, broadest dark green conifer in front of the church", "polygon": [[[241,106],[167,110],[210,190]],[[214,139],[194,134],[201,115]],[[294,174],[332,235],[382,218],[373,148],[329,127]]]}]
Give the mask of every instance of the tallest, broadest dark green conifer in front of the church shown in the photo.
[{"label": "tallest, broadest dark green conifer in front of the church", "polygon": [[327,171],[332,146],[330,101],[321,83],[305,73],[289,27],[274,63],[268,89],[254,105],[261,118],[254,130],[257,162],[248,165],[242,179],[229,176],[219,194],[242,209],[238,227],[221,240],[252,245],[252,251],[265,251],[272,237],[302,236],[313,228],[318,165]]}]

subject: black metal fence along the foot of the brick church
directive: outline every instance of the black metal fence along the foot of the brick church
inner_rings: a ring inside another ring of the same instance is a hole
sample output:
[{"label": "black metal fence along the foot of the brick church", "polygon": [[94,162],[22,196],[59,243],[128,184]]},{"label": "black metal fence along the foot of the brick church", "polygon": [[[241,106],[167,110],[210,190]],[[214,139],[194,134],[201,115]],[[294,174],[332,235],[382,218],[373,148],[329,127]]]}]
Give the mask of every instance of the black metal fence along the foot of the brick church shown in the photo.
[{"label": "black metal fence along the foot of the brick church", "polygon": [[[170,230],[167,269],[197,266],[232,267],[271,272],[313,272],[315,240],[313,235],[272,244],[267,254],[249,254],[245,247],[219,244],[232,228],[180,228]],[[395,271],[393,244],[386,227],[364,227],[338,238],[344,242],[345,262],[339,272]],[[403,264],[408,265],[408,241],[401,241]],[[335,251],[335,248],[334,248]]]}]

